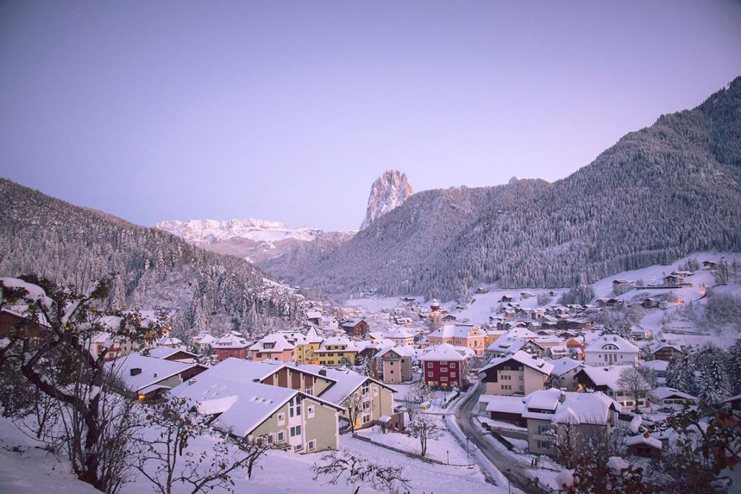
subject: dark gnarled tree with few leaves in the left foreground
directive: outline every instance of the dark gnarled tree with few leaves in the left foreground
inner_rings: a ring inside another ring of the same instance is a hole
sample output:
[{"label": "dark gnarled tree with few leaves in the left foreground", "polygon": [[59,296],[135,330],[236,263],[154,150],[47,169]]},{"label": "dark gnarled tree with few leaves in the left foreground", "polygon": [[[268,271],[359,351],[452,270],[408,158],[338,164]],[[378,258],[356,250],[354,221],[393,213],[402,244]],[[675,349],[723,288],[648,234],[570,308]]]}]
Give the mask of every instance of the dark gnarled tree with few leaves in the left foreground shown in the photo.
[{"label": "dark gnarled tree with few leaves in the left foreground", "polygon": [[[37,404],[44,410],[56,407],[61,427],[51,427],[56,424],[44,411],[37,436],[64,448],[80,480],[114,493],[130,466],[125,452],[136,417],[127,399],[109,392],[113,381],[108,379],[105,362],[108,349],[94,355],[92,340],[106,332],[112,339],[143,345],[161,336],[163,321],[144,325],[139,313],[100,309],[106,305],[110,287],[105,279],[83,294],[33,275],[22,282],[0,283],[1,303],[25,308],[25,325],[10,334],[0,364],[14,362],[38,396],[45,396],[46,404]],[[113,327],[108,316],[115,317]]]}]

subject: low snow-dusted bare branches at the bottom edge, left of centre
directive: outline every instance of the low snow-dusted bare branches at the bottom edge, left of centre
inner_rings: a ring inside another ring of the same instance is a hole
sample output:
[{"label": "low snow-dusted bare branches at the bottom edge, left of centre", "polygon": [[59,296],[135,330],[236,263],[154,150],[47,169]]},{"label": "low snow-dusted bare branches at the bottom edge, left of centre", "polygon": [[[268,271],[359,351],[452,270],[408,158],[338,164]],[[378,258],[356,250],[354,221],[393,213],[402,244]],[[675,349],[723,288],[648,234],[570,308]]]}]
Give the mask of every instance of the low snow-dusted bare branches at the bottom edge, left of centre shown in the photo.
[{"label": "low snow-dusted bare branches at the bottom edge, left of centre", "polygon": [[404,476],[403,467],[387,467],[373,463],[362,456],[354,456],[347,450],[335,451],[322,456],[311,468],[314,481],[320,476],[328,477],[325,484],[336,485],[340,479],[353,487],[357,494],[360,487],[372,487],[389,494],[409,493],[409,479]]}]

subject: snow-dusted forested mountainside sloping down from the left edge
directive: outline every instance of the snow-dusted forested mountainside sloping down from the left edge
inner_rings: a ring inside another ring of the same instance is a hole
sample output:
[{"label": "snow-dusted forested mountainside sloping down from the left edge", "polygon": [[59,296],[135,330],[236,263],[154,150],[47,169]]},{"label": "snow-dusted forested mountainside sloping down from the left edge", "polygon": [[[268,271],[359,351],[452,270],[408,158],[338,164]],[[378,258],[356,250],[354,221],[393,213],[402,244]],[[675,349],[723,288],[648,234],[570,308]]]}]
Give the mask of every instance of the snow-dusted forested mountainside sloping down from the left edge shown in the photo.
[{"label": "snow-dusted forested mountainside sloping down from the left edge", "polygon": [[245,260],[0,179],[0,276],[87,285],[113,277],[115,308],[172,308],[173,328],[261,334],[304,319],[306,301]]}]

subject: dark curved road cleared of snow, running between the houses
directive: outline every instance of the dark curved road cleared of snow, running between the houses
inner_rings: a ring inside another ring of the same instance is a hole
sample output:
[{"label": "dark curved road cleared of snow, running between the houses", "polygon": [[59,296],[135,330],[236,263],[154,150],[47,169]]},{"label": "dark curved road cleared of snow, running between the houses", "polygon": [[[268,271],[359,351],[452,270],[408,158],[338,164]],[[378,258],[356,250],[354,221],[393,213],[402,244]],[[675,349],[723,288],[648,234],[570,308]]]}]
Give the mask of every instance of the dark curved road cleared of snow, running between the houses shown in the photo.
[{"label": "dark curved road cleared of snow, running between the houses", "polygon": [[[543,490],[538,489],[534,485],[527,484],[525,480],[527,478],[525,476],[525,470],[527,470],[526,462],[518,462],[512,456],[497,450],[481,436],[479,430],[473,425],[473,416],[476,415],[473,408],[479,406],[479,396],[482,395],[484,390],[485,385],[479,383],[473,393],[467,394],[463,398],[460,406],[455,410],[456,422],[458,422],[459,427],[468,439],[471,439],[471,442],[476,444],[476,447],[481,450],[483,455],[494,464],[496,470],[499,470],[502,475],[507,477],[512,482],[512,485],[528,494],[542,494],[544,492]],[[507,473],[507,469],[510,469],[511,472]]]}]

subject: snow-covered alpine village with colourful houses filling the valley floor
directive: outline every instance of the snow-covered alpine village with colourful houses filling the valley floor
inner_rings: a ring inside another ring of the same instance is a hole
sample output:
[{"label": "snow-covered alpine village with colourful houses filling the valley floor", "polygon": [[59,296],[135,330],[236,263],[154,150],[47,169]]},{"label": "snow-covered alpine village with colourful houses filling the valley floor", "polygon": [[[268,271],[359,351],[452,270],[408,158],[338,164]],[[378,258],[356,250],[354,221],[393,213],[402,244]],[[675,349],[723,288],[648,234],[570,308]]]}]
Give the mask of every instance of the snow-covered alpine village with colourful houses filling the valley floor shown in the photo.
[{"label": "snow-covered alpine village with colourful houses filling the valley floor", "polygon": [[[578,450],[604,448],[634,464],[661,457],[672,436],[654,424],[700,402],[668,386],[667,373],[700,345],[686,328],[645,322],[702,299],[716,269],[715,260],[669,274],[654,266],[642,273],[648,283],[597,282],[586,304],[556,303],[563,289],[484,286],[468,304],[366,297],[346,308],[313,305],[305,327],[256,341],[237,331],[182,341],[165,330],[135,348],[101,333],[90,353],[106,349],[108,368],[135,399],[185,399],[214,429],[270,449],[340,450],[350,435],[540,492],[535,479],[557,487],[556,473]],[[641,324],[605,323],[626,311]],[[3,308],[0,336],[22,320]],[[740,396],[719,401],[741,411]]]}]

